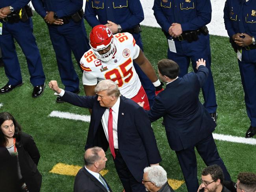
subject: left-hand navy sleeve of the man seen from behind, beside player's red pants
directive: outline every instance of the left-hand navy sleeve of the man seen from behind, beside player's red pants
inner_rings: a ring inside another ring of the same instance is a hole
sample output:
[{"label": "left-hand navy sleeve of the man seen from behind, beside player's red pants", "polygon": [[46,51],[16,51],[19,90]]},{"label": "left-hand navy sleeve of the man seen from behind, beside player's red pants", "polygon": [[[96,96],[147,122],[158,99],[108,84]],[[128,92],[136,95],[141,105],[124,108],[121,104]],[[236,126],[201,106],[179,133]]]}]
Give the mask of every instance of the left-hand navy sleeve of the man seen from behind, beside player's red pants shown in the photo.
[{"label": "left-hand navy sleeve of the man seen from behind, beside player's red pants", "polygon": [[154,122],[165,115],[165,105],[160,102],[160,96],[155,98],[154,104],[150,111],[146,111],[151,122]]}]

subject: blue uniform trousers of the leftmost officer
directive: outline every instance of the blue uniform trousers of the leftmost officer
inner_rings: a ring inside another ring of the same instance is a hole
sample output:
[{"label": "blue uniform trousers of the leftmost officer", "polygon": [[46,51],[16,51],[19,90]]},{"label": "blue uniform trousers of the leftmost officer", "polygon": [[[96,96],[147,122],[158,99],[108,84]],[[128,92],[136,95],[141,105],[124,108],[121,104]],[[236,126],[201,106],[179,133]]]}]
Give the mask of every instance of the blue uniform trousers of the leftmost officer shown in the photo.
[{"label": "blue uniform trousers of the leftmost officer", "polygon": [[[30,73],[30,82],[32,85],[43,85],[45,82],[45,74],[43,72],[43,65],[39,53],[39,49],[33,36],[33,23],[29,18],[26,22],[17,22],[10,24],[3,22],[3,31],[0,35],[0,46],[2,49],[2,59],[4,61],[4,70],[9,85],[19,85],[22,83],[22,76],[20,72],[20,64],[15,50],[14,39],[24,53],[28,70]],[[14,39],[13,39],[14,38]]]}]

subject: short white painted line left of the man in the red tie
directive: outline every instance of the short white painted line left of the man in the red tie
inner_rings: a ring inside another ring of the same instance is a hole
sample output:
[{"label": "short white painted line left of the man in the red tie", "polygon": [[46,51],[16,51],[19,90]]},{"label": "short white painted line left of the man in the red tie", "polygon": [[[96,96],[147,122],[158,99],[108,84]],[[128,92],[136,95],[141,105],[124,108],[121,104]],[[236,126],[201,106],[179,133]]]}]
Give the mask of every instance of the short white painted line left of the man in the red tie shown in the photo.
[{"label": "short white painted line left of the man in the red tie", "polygon": [[90,122],[91,120],[91,116],[89,115],[80,115],[80,114],[61,112],[61,111],[52,111],[52,113],[50,113],[49,116],[59,117],[64,119],[80,120],[84,122]]}]

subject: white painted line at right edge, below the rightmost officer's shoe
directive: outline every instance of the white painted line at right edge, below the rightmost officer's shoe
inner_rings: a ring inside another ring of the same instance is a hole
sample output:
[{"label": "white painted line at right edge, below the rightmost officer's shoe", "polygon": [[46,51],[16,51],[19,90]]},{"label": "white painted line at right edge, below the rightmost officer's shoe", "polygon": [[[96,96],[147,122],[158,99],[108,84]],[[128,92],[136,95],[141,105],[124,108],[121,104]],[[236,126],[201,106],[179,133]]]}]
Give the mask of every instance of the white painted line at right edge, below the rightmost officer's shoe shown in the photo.
[{"label": "white painted line at right edge, below the rightmost officer's shoe", "polygon": [[235,142],[235,143],[243,143],[249,145],[256,145],[256,138],[244,138],[244,137],[236,137],[232,135],[222,135],[213,133],[213,138],[222,141]]}]

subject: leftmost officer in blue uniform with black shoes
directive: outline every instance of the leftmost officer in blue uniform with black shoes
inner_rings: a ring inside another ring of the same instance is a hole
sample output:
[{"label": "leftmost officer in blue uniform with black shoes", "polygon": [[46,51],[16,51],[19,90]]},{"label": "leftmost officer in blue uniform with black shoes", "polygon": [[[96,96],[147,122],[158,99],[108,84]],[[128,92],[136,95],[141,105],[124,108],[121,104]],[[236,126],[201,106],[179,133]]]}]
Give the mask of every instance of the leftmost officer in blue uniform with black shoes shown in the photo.
[{"label": "leftmost officer in blue uniform with black shoes", "polygon": [[45,88],[41,56],[32,33],[32,10],[27,6],[29,2],[29,0],[0,0],[0,22],[2,25],[0,47],[5,64],[4,70],[9,79],[7,84],[0,89],[0,94],[10,92],[15,87],[22,85],[20,64],[13,38],[18,42],[28,63],[30,82],[34,87],[32,97],[41,96]]}]

